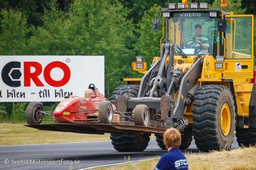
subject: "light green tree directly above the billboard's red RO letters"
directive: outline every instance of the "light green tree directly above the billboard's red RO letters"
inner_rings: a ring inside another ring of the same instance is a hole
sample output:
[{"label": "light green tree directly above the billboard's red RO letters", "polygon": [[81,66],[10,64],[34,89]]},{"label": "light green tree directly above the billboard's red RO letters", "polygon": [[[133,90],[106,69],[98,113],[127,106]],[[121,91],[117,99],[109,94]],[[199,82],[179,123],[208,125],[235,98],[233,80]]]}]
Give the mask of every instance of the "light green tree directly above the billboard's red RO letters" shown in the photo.
[{"label": "light green tree directly above the billboard's red RO letters", "polygon": [[28,55],[69,55],[71,42],[68,41],[68,18],[58,8],[56,1],[51,1],[49,6],[50,9],[46,9],[42,16],[42,26],[32,29]]}]

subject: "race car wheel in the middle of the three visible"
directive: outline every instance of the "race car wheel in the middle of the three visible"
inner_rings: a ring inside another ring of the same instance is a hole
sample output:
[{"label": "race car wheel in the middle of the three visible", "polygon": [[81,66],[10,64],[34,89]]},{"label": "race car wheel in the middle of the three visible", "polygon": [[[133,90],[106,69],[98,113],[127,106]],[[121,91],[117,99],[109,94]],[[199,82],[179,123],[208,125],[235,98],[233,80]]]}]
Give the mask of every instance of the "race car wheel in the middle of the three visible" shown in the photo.
[{"label": "race car wheel in the middle of the three visible", "polygon": [[99,122],[112,124],[114,110],[110,101],[102,101],[99,105]]}]

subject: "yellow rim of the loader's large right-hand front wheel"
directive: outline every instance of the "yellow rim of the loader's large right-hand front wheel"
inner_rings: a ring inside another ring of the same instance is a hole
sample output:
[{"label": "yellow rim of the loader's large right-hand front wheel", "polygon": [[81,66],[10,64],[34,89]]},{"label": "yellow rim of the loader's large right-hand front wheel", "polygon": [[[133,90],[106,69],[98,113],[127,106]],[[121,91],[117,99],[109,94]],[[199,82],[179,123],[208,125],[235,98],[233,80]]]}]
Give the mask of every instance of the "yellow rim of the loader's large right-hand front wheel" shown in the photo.
[{"label": "yellow rim of the loader's large right-hand front wheel", "polygon": [[231,114],[229,106],[226,103],[221,108],[220,124],[222,134],[227,136],[231,125]]}]

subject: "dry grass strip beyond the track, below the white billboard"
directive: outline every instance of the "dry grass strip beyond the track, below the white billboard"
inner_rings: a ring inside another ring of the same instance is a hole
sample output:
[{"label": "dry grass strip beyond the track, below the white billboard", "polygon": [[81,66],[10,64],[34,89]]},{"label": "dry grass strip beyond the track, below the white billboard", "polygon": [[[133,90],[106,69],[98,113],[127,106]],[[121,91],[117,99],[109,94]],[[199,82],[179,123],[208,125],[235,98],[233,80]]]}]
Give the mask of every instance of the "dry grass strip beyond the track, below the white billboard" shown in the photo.
[{"label": "dry grass strip beyond the track, below the white billboard", "polygon": [[25,124],[0,124],[0,145],[110,140],[109,134],[39,131],[23,125]]}]

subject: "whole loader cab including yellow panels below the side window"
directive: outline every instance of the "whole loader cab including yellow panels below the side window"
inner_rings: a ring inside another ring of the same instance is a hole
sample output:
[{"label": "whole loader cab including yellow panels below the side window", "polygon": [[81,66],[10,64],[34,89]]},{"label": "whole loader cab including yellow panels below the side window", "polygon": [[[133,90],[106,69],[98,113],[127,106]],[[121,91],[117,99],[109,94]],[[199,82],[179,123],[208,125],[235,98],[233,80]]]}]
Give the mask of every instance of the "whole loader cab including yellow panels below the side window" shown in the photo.
[{"label": "whole loader cab including yellow panels below the side window", "polygon": [[[182,51],[186,56],[204,57],[210,67],[207,68],[209,74],[202,75],[203,79],[232,79],[234,83],[254,81],[253,15],[234,15],[220,9],[174,7],[161,12],[163,36],[167,43],[179,47],[178,50],[175,48],[176,56],[181,56]],[[196,25],[201,27],[201,42],[207,50],[195,42]]]}]

